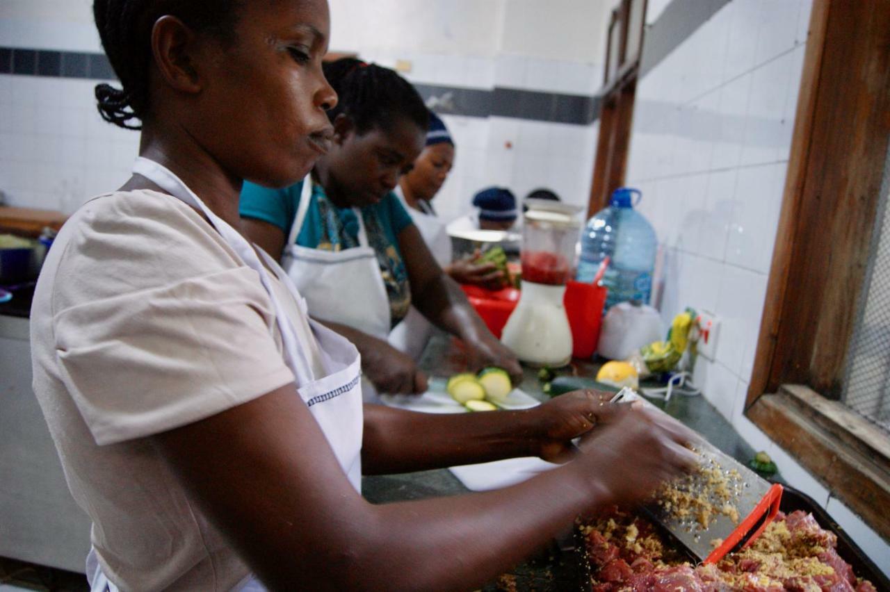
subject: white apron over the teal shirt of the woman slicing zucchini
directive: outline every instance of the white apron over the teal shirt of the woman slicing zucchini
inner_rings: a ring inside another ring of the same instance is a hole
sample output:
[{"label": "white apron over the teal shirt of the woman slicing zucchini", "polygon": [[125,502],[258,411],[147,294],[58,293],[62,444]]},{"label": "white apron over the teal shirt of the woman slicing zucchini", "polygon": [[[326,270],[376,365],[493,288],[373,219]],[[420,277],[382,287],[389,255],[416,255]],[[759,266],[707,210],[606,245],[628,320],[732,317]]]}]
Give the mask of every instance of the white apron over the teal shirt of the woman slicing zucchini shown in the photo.
[{"label": "white apron over the teal shirt of the woman slicing zucchini", "polygon": [[[361,211],[353,208],[359,220],[359,246],[337,252],[322,251],[296,244],[311,201],[312,175],[309,174],[303,179],[300,204],[287,236],[281,267],[303,294],[313,317],[387,340],[392,322],[389,297],[376,252],[368,246]],[[366,403],[381,402],[370,380],[362,378],[361,385]]]}]

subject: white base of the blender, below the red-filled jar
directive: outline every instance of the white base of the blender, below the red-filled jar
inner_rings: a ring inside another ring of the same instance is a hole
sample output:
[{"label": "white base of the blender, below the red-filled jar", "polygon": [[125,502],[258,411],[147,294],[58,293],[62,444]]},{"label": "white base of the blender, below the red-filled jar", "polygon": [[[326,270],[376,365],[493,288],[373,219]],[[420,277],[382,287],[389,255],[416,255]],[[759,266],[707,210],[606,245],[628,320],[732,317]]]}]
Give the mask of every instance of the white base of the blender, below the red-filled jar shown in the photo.
[{"label": "white base of the blender, below the red-filled jar", "polygon": [[564,285],[522,282],[522,295],[504,325],[501,341],[522,362],[563,366],[571,360],[571,328],[562,306]]}]

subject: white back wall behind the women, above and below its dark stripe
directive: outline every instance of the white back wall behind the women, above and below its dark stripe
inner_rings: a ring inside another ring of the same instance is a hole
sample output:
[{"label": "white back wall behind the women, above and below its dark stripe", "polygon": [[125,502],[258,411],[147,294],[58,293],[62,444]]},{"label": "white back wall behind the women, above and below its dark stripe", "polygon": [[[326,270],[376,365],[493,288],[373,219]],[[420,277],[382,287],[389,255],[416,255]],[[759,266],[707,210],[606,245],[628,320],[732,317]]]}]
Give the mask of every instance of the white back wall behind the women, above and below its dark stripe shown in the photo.
[{"label": "white back wall behind the women, above and below its dark stripe", "polygon": [[[407,60],[411,69],[404,75],[416,84],[593,96],[602,79],[604,43],[598,40],[609,3],[548,4],[553,22],[565,35],[522,45],[520,34],[534,20],[523,6],[533,4],[385,0],[374,3],[372,10],[332,0],[331,46],[389,67]],[[2,44],[98,52],[91,6],[90,0],[0,3]],[[585,44],[567,41],[582,37]],[[138,134],[101,121],[93,107],[93,85],[0,76],[0,190],[12,204],[72,212],[89,196],[125,179]],[[595,125],[449,115],[444,119],[457,142],[457,160],[436,197],[442,217],[462,215],[473,194],[491,185],[511,188],[520,198],[546,187],[571,203],[587,203]]]}]

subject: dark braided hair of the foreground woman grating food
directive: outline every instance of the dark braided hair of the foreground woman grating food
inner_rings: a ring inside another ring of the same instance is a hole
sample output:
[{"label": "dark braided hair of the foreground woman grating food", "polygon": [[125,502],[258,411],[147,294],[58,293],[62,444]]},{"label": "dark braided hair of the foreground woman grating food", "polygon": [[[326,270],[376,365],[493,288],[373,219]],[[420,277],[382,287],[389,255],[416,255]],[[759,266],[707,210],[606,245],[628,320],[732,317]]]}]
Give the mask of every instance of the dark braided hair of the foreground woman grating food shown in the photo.
[{"label": "dark braided hair of the foreground woman grating food", "polygon": [[96,85],[99,114],[105,121],[128,130],[142,129],[149,115],[151,29],[167,14],[192,30],[207,31],[225,46],[235,41],[237,7],[243,0],[95,0],[93,17],[102,47],[122,88]]}]

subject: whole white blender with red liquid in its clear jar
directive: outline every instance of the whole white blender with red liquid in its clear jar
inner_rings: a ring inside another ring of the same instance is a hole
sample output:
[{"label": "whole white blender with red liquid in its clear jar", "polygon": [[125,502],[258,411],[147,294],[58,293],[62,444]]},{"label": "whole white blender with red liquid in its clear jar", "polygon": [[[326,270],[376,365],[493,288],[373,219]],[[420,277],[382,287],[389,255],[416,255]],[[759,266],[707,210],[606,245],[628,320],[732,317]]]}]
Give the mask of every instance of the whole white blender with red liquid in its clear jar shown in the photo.
[{"label": "whole white blender with red liquid in its clear jar", "polygon": [[562,299],[579,229],[567,208],[532,206],[523,216],[522,292],[501,341],[526,364],[558,367],[571,359],[571,329]]}]

